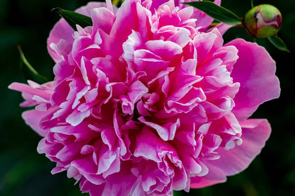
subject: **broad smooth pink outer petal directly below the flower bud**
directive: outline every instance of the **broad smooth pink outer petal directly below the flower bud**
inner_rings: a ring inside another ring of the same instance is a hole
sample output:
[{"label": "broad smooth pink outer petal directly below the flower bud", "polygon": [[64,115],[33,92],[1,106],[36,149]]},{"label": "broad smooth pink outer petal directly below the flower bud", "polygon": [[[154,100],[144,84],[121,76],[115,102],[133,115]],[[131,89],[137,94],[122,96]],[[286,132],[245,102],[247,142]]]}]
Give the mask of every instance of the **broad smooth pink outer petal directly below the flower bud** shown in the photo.
[{"label": "broad smooth pink outer petal directly below the flower bud", "polygon": [[238,56],[231,74],[239,82],[239,91],[234,99],[233,113],[239,122],[249,118],[265,101],[280,96],[280,83],[275,76],[275,61],[265,48],[242,39],[231,41],[238,49]]}]

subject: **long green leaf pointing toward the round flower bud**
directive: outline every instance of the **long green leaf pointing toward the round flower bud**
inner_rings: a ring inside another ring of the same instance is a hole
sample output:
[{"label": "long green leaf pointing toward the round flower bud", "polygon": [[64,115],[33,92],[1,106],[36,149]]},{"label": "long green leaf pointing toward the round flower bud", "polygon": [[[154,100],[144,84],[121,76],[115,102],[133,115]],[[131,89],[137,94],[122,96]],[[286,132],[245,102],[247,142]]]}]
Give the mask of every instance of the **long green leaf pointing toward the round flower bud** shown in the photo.
[{"label": "long green leaf pointing toward the round flower bud", "polygon": [[225,23],[227,25],[242,24],[242,20],[238,16],[236,16],[236,14],[210,1],[194,1],[186,2],[184,4],[196,7],[197,9],[205,12],[208,16],[212,17],[213,19],[221,23]]}]

